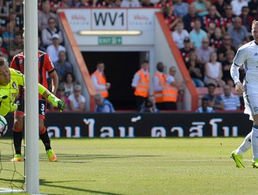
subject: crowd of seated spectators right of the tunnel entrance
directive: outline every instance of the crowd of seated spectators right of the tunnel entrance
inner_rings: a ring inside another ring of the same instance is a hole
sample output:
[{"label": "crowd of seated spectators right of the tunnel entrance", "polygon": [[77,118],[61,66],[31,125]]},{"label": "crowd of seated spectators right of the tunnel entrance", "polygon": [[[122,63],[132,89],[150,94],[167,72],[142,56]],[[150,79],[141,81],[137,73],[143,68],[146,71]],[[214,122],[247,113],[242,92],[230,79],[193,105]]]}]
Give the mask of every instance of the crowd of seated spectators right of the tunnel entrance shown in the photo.
[{"label": "crowd of seated spectators right of the tunnel entrance", "polygon": [[[258,19],[258,1],[171,2],[162,7],[165,22],[195,86],[234,86],[229,69],[236,50],[252,40],[250,29],[252,20]],[[243,68],[240,71],[243,79]]]}]

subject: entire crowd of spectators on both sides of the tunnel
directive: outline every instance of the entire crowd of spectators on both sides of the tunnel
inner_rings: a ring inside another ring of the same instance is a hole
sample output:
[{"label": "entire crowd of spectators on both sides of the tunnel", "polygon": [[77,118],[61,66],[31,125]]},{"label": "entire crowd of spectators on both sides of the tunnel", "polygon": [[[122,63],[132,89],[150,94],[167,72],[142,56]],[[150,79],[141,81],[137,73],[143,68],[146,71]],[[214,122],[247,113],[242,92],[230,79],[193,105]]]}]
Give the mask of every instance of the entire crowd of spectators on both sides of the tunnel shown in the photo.
[{"label": "entire crowd of spectators on both sides of the tunnel", "polygon": [[[50,55],[64,88],[73,65],[66,61],[56,10],[66,7],[160,8],[197,87],[234,86],[231,61],[238,47],[252,40],[252,20],[258,19],[257,0],[38,0],[39,49]],[[0,56],[10,61],[23,49],[22,0],[0,0],[0,17]]]}]

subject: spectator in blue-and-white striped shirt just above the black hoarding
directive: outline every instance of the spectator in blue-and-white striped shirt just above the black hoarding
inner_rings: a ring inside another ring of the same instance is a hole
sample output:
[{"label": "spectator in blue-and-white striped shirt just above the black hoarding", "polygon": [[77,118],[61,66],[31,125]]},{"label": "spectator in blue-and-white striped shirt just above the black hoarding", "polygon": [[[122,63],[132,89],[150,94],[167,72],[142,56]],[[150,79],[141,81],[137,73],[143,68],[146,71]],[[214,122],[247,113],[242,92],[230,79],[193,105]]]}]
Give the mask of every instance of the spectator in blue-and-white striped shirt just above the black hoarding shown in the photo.
[{"label": "spectator in blue-and-white striped shirt just above the black hoarding", "polygon": [[222,101],[225,104],[225,110],[238,110],[240,109],[240,100],[237,95],[231,92],[229,85],[224,86],[224,94],[221,95]]}]

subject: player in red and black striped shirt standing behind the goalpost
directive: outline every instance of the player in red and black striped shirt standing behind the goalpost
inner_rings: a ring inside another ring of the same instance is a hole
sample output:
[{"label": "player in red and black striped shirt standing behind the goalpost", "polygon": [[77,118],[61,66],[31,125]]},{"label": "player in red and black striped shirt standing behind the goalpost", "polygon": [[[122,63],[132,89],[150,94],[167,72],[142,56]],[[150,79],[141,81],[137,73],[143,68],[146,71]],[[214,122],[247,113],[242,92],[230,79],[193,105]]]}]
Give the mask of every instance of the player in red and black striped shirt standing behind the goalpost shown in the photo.
[{"label": "player in red and black striped shirt standing behind the goalpost", "polygon": [[[10,65],[10,68],[15,70],[19,70],[24,74],[24,54],[23,52],[17,54],[13,57],[13,61]],[[38,83],[47,86],[47,72],[52,79],[53,88],[52,93],[56,94],[56,89],[58,88],[59,78],[54,70],[54,65],[50,60],[50,56],[45,52],[38,50]],[[43,141],[45,145],[45,150],[47,152],[47,156],[49,157],[50,161],[56,161],[56,155],[50,146],[50,137],[48,137],[46,127],[44,124],[45,120],[45,112],[46,112],[46,100],[39,95],[38,98],[38,111],[39,111],[39,136],[40,139]],[[18,109],[14,113],[14,125],[13,125],[13,143],[15,146],[15,157],[12,161],[21,161],[21,146],[22,146],[22,128],[23,128],[23,121],[24,121],[24,98],[23,94],[20,93],[19,98],[17,100]]]}]

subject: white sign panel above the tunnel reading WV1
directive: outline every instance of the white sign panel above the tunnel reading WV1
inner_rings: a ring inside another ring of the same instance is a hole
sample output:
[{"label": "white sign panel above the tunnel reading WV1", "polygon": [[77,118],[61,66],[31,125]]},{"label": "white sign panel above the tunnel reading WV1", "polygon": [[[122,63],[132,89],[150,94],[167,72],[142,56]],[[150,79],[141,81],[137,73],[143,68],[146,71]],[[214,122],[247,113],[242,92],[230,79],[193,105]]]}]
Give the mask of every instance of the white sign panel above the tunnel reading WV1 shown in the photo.
[{"label": "white sign panel above the tunnel reading WV1", "polygon": [[85,8],[59,9],[66,18],[73,32],[87,31],[154,31],[155,12],[158,8]]}]

